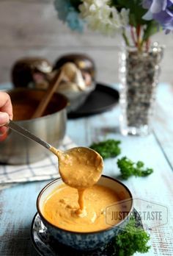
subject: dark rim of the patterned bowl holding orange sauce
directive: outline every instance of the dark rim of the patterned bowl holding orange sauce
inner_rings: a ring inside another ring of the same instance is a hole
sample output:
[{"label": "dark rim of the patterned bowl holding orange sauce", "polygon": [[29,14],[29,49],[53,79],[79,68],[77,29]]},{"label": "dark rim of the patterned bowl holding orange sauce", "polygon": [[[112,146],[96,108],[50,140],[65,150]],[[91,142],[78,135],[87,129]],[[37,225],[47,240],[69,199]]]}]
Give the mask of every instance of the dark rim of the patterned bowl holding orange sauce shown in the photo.
[{"label": "dark rim of the patterned bowl holding orange sauce", "polygon": [[[61,230],[63,232],[67,232],[67,233],[70,233],[70,234],[76,234],[76,235],[92,235],[92,234],[97,234],[97,233],[100,233],[100,232],[107,232],[108,230],[112,230],[114,229],[114,227],[119,227],[120,224],[122,224],[122,222],[124,222],[127,218],[129,218],[129,216],[131,215],[131,213],[133,213],[133,196],[132,196],[132,193],[130,192],[129,188],[123,184],[122,182],[120,182],[118,179],[114,179],[112,177],[109,177],[109,176],[106,176],[106,175],[101,175],[101,177],[104,177],[106,179],[111,179],[113,180],[114,182],[118,182],[120,185],[122,185],[126,191],[128,191],[129,195],[130,195],[130,199],[131,199],[131,202],[132,202],[132,205],[131,205],[131,208],[130,208],[130,211],[128,213],[127,216],[125,216],[125,218],[122,219],[122,221],[119,221],[118,224],[115,224],[114,226],[111,226],[111,227],[108,227],[106,228],[105,230],[98,230],[98,231],[92,231],[92,232],[76,232],[76,231],[71,231],[71,230],[65,230],[63,229],[62,227],[57,227],[55,226],[54,224],[52,224],[51,222],[49,222],[44,216],[43,214],[41,213],[41,210],[40,210],[40,198],[41,196],[43,195],[43,192],[48,188],[50,187],[52,184],[56,183],[57,181],[59,181],[60,179],[62,180],[61,177],[57,178],[57,179],[54,179],[53,181],[49,182],[47,185],[45,185],[45,187],[40,191],[40,193],[38,194],[37,196],[37,201],[36,201],[36,207],[37,207],[37,213],[40,215],[40,218],[43,219],[43,221],[47,222],[49,225],[51,225],[51,227],[54,227],[56,230]],[[101,178],[100,177],[100,178]]]}]

